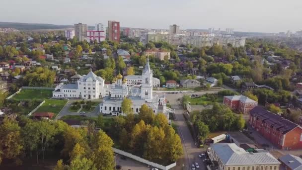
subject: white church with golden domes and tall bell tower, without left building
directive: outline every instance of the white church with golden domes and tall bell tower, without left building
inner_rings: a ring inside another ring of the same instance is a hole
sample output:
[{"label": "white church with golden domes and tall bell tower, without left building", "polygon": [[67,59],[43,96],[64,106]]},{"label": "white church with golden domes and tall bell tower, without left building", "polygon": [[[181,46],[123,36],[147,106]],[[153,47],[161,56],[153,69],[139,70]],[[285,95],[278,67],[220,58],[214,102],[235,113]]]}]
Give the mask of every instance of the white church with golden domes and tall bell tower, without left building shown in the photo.
[{"label": "white church with golden domes and tall bell tower, without left building", "polygon": [[118,75],[117,80],[113,81],[110,89],[110,95],[104,97],[104,102],[100,104],[100,112],[103,114],[120,115],[123,114],[121,104],[124,98],[129,98],[132,101],[132,110],[134,113],[139,113],[143,104],[147,104],[152,108],[154,113],[159,112],[159,107],[162,106],[162,111],[165,109],[165,96],[153,96],[152,85],[152,70],[150,69],[149,60],[143,70],[141,88],[127,86],[127,79],[122,75]]}]

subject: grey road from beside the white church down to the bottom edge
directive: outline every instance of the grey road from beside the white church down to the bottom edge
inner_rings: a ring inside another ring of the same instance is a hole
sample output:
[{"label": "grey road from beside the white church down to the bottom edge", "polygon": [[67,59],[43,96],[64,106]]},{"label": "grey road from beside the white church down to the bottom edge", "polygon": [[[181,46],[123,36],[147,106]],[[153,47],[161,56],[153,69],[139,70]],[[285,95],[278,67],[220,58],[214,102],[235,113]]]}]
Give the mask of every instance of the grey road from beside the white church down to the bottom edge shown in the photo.
[{"label": "grey road from beside the white church down to the bottom edge", "polygon": [[175,124],[178,126],[178,134],[182,140],[183,150],[184,150],[184,161],[186,164],[184,165],[184,170],[190,170],[190,166],[192,163],[197,162],[200,166],[199,170],[206,170],[203,165],[202,160],[198,157],[198,155],[202,152],[206,151],[206,148],[198,148],[195,145],[195,141],[193,140],[189,128],[187,127],[186,121],[183,117],[183,112],[185,110],[182,109],[180,102],[177,101],[178,98],[181,98],[184,94],[199,94],[203,95],[206,93],[216,93],[219,90],[207,90],[207,91],[198,91],[198,92],[187,92],[187,93],[178,93],[178,94],[166,94],[166,98],[171,104],[171,107],[175,109]]}]

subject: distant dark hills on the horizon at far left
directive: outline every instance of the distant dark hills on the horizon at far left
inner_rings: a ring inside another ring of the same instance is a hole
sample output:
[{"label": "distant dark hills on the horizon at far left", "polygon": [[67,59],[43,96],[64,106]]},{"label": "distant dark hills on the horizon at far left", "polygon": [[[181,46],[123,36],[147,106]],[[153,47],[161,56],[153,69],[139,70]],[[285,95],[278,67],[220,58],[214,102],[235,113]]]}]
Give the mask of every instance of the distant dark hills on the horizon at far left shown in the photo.
[{"label": "distant dark hills on the horizon at far left", "polygon": [[0,22],[0,27],[15,28],[18,30],[36,30],[36,29],[62,29],[73,28],[74,25],[54,25],[54,24],[40,24],[40,23],[20,23],[20,22]]}]

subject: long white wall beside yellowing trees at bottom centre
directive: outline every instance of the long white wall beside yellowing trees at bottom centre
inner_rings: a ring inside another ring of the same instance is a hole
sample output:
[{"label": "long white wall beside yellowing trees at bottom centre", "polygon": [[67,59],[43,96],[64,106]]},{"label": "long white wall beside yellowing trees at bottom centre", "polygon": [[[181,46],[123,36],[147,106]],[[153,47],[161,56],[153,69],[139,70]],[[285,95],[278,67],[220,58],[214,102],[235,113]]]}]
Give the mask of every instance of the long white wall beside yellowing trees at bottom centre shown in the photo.
[{"label": "long white wall beside yellowing trees at bottom centre", "polygon": [[143,164],[147,164],[147,165],[150,165],[151,167],[154,167],[154,168],[158,168],[158,169],[161,169],[161,170],[170,170],[171,168],[173,167],[176,167],[176,162],[173,163],[173,164],[170,164],[168,166],[162,166],[162,165],[159,165],[159,164],[156,164],[156,163],[153,163],[153,162],[150,162],[148,160],[145,160],[141,157],[138,157],[138,156],[135,156],[135,155],[132,155],[128,152],[125,152],[125,151],[122,151],[122,150],[119,150],[119,149],[116,149],[116,148],[113,148],[113,151],[117,154],[120,154],[120,155],[123,155],[125,157],[128,157],[128,158],[131,158],[135,161],[138,161],[140,163],[143,163]]}]

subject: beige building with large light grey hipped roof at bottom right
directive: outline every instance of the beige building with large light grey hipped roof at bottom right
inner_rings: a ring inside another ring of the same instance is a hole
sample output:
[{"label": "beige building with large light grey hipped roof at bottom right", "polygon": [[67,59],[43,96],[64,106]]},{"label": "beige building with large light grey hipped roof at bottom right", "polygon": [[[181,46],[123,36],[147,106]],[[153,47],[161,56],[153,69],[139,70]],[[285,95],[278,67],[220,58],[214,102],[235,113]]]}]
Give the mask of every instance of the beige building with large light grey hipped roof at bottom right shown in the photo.
[{"label": "beige building with large light grey hipped roof at bottom right", "polygon": [[234,143],[211,144],[209,158],[219,170],[279,170],[281,164],[265,150],[249,153]]}]

